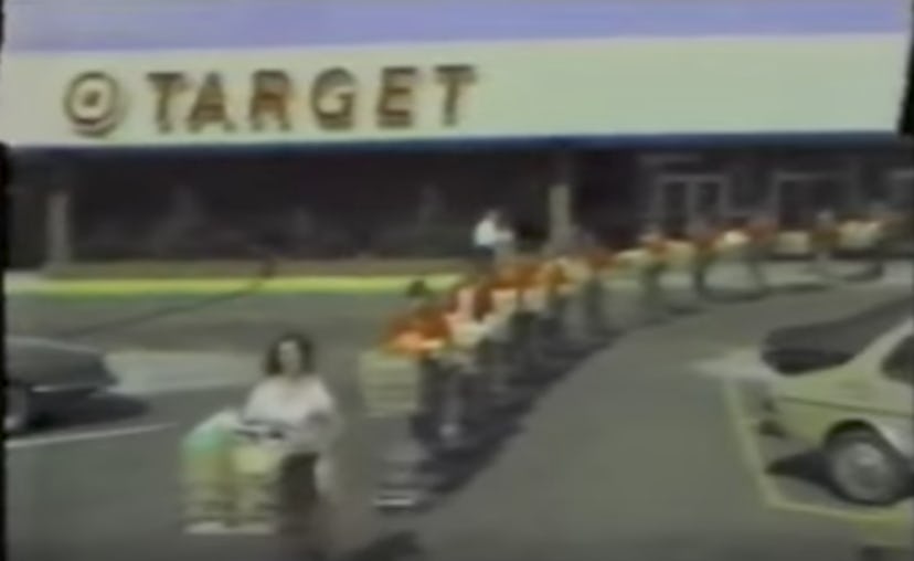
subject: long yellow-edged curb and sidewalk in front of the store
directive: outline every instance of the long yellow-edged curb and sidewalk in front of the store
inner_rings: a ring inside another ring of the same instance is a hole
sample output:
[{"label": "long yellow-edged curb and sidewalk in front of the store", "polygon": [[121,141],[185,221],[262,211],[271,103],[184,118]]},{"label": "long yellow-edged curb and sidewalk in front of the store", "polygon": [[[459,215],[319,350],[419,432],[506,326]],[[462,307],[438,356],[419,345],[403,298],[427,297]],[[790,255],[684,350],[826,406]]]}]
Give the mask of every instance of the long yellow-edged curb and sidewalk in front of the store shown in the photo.
[{"label": "long yellow-edged curb and sidewalk in front of the store", "polygon": [[[839,276],[862,271],[860,262],[836,262],[835,272]],[[817,280],[807,271],[806,262],[776,262],[767,265],[768,277],[775,285],[807,284]],[[424,276],[433,286],[445,287],[455,277],[448,273],[431,275],[379,276],[280,276],[258,284],[256,278],[95,278],[95,279],[53,279],[40,273],[13,272],[4,274],[4,294],[7,296],[163,296],[163,295],[217,295],[234,290],[249,289],[264,294],[384,294],[401,290],[410,280]],[[742,286],[746,282],[745,267],[738,263],[722,263],[711,269],[710,280],[719,286]],[[663,283],[670,287],[686,287],[689,275],[682,271],[671,271],[663,276]],[[610,280],[614,288],[635,288],[636,279],[630,274],[623,274]],[[914,262],[894,261],[889,264],[884,278],[878,283],[859,286],[912,286],[914,288]]]}]

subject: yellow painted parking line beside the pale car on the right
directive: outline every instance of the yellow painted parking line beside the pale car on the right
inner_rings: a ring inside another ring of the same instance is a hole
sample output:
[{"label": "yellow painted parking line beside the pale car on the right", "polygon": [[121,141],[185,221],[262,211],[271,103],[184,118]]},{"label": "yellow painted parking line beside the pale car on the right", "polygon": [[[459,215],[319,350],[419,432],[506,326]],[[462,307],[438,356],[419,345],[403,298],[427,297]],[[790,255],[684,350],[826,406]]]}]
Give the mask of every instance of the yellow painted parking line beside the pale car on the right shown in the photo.
[{"label": "yellow painted parking line beside the pale car on the right", "polygon": [[736,382],[734,380],[723,380],[721,385],[727,417],[733,426],[740,456],[753,478],[764,506],[772,510],[831,518],[850,523],[879,523],[886,521],[886,519],[891,520],[895,516],[905,516],[905,508],[907,507],[904,505],[893,508],[874,508],[867,512],[854,512],[849,509],[800,502],[786,497],[773,478],[766,475],[764,455],[754,434],[756,422],[748,414],[744,400],[740,396]]}]

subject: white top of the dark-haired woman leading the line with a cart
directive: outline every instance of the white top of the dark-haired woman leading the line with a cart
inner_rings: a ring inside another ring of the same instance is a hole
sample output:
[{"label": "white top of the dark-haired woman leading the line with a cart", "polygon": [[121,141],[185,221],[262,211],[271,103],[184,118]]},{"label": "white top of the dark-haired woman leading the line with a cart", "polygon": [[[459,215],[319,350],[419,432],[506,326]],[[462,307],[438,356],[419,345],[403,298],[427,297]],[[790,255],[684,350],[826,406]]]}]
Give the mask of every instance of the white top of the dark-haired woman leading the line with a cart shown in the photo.
[{"label": "white top of the dark-haired woman leading the line with a cart", "polygon": [[281,426],[294,453],[325,454],[342,431],[337,402],[319,375],[263,380],[251,392],[242,419]]}]

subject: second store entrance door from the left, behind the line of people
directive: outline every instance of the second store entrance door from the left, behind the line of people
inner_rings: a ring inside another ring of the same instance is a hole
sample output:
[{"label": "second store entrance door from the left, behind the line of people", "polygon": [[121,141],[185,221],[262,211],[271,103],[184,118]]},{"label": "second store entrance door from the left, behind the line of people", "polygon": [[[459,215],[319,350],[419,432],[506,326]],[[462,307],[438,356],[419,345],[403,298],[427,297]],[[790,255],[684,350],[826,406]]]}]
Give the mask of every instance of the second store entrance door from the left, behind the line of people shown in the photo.
[{"label": "second store entrance door from the left, behind the line of people", "polygon": [[776,172],[774,199],[778,223],[784,229],[807,229],[820,210],[841,213],[846,192],[833,176],[807,172]]}]

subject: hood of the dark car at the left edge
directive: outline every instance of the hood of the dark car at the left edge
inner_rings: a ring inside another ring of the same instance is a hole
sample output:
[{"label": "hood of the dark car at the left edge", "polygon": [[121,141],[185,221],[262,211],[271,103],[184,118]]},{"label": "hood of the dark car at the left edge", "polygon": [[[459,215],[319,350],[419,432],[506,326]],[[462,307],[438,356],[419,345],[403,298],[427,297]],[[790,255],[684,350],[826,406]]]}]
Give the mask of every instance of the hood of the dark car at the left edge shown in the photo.
[{"label": "hood of the dark car at the left edge", "polygon": [[114,381],[105,354],[50,339],[9,336],[4,340],[10,377],[29,384],[98,384]]}]

